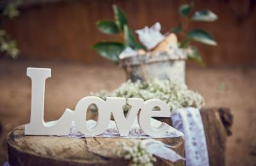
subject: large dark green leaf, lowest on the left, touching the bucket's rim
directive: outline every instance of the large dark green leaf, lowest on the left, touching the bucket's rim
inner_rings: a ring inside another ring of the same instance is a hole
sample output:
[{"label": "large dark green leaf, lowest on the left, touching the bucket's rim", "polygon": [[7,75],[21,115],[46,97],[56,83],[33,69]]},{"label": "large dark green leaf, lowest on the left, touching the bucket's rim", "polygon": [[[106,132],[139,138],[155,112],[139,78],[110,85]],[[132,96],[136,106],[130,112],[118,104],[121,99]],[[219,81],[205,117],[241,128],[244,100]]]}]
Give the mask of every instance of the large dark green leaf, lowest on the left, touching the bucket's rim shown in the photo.
[{"label": "large dark green leaf, lowest on the left, touching the bucket's rim", "polygon": [[102,57],[106,57],[114,63],[118,63],[118,57],[125,49],[124,44],[118,41],[100,41],[93,45],[93,48],[97,49]]}]

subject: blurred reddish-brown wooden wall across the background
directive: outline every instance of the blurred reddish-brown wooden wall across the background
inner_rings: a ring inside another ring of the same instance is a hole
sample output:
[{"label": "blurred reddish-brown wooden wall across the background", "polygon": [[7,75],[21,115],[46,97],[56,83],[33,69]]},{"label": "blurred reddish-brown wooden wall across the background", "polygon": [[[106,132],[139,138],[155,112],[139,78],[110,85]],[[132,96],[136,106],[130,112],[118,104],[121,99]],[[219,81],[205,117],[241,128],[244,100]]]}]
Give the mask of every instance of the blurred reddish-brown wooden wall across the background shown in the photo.
[{"label": "blurred reddish-brown wooden wall across the background", "polygon": [[[256,62],[256,11],[248,12],[250,1],[195,1],[195,10],[208,8],[218,21],[193,23],[203,27],[218,41],[218,47],[197,44],[207,64],[251,64]],[[92,45],[109,38],[97,30],[95,22],[113,19],[112,4],[123,8],[133,29],[162,24],[162,32],[179,24],[179,5],[172,0],[84,0],[34,4],[20,8],[13,20],[4,20],[4,28],[18,42],[20,59],[82,61],[102,63]]]}]

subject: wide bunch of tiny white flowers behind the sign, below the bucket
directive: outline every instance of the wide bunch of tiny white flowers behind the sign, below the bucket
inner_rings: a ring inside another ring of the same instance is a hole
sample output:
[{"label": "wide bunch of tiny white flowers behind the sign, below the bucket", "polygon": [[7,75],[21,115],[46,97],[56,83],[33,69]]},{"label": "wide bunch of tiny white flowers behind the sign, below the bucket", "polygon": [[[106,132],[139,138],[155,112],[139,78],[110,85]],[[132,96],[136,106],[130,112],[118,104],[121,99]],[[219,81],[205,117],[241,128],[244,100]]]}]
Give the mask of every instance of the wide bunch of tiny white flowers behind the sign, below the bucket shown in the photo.
[{"label": "wide bunch of tiny white flowers behind the sign, below the bucket", "polygon": [[[158,98],[168,104],[171,111],[182,107],[201,108],[204,105],[204,98],[184,84],[178,84],[170,80],[154,79],[148,82],[131,82],[128,80],[121,84],[113,92],[100,91],[92,94],[104,100],[106,97],[143,98],[144,100]],[[129,107],[125,107],[127,111]]]}]

